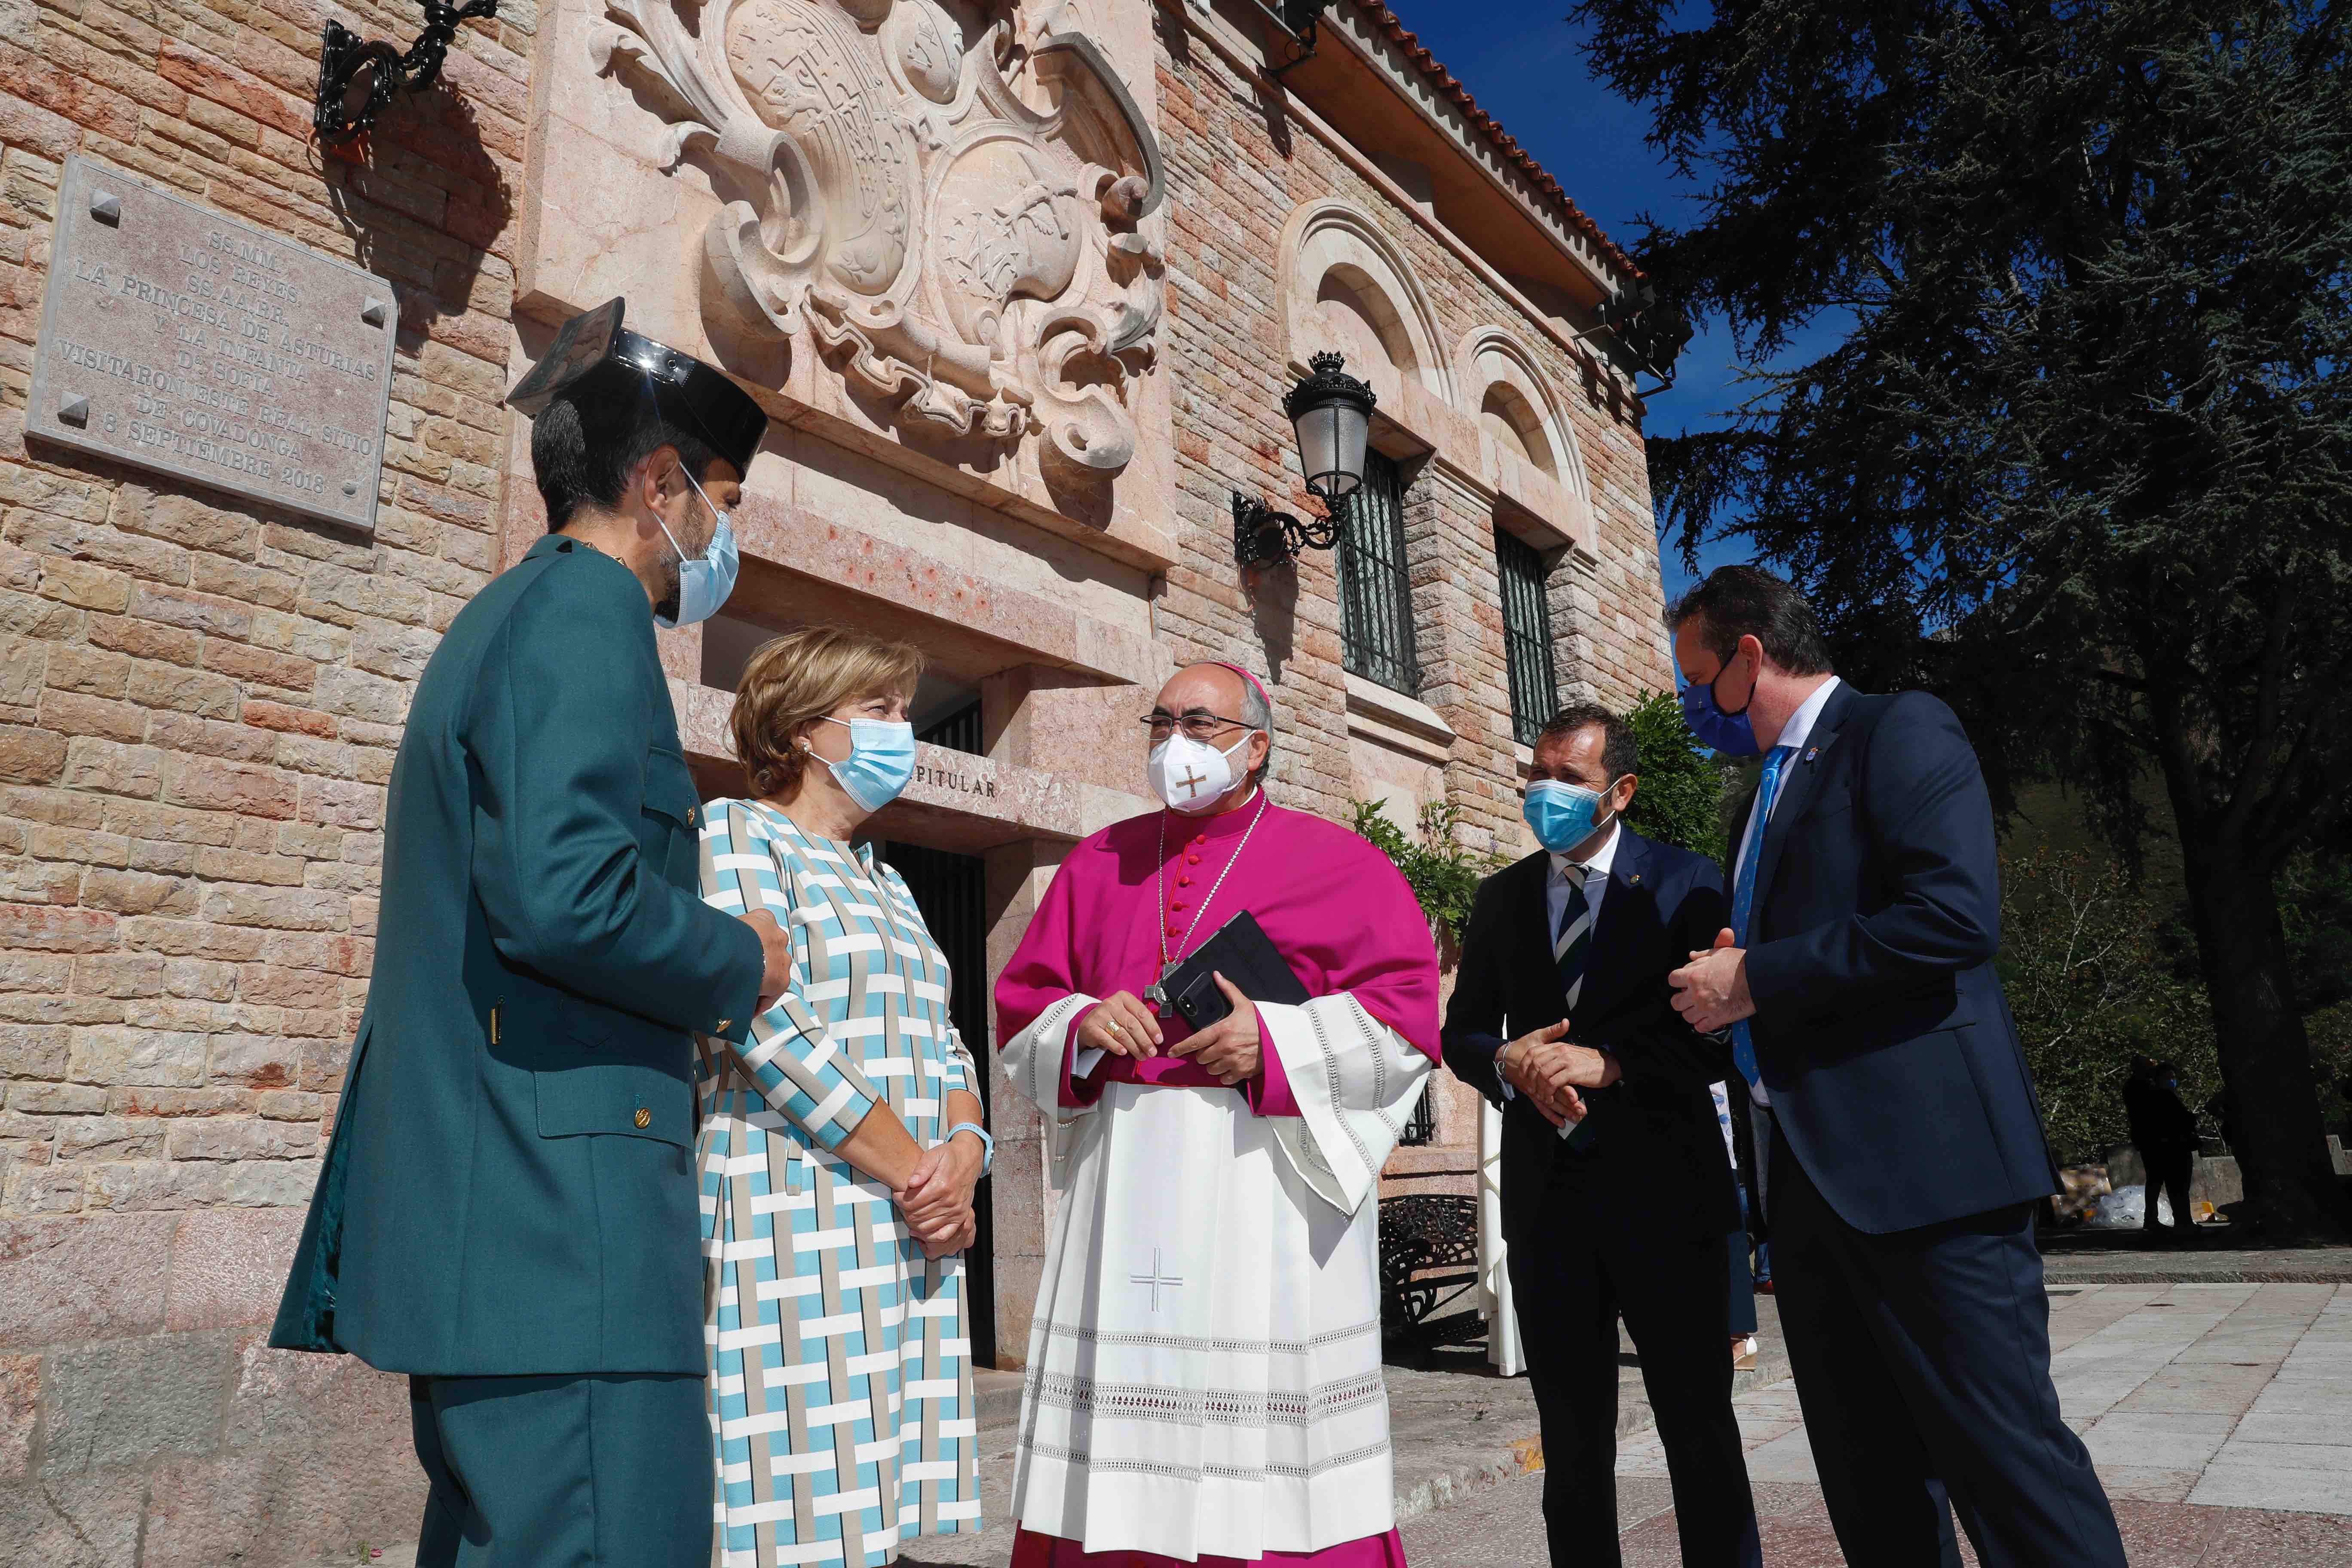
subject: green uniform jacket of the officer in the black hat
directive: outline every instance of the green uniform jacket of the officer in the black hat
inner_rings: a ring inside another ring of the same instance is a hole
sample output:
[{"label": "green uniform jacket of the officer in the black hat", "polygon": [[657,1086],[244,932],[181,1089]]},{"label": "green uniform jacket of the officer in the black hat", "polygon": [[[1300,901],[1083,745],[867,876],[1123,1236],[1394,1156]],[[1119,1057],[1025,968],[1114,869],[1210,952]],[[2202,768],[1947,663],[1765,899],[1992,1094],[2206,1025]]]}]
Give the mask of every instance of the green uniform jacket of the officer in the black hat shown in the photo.
[{"label": "green uniform jacket of the officer in the black hat", "polygon": [[367,1013],[270,1345],[703,1371],[689,1030],[743,1039],[762,954],[696,898],[699,832],[644,588],[541,538],[416,682]]}]

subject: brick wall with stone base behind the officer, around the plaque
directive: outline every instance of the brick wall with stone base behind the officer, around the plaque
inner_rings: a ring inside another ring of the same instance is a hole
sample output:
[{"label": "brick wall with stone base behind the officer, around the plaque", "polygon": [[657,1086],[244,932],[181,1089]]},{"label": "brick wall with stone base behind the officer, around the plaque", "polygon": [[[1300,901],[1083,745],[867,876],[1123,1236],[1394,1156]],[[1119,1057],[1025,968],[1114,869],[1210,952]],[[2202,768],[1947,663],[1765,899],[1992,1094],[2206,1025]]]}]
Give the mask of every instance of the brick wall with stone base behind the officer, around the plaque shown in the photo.
[{"label": "brick wall with stone base behind the officer, around the plaque", "polygon": [[[308,146],[325,16],[0,0],[0,1563],[365,1561],[416,1530],[402,1382],[261,1335],[409,689],[492,571],[534,7],[470,24],[365,165]],[[374,538],[26,442],[73,150],[393,280]]]}]

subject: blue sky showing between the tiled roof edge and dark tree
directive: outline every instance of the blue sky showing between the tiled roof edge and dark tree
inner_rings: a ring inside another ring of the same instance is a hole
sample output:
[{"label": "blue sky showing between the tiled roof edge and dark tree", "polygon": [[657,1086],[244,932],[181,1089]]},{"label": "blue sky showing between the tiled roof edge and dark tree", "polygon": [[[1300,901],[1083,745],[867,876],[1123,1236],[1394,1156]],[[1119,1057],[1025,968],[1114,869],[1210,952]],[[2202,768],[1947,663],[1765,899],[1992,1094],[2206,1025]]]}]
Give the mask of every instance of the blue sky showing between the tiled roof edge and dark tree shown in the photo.
[{"label": "blue sky showing between the tiled roof edge and dark tree", "polygon": [[[1583,28],[1562,21],[1564,0],[1390,0],[1390,9],[1611,240],[1630,244],[1642,233],[1637,212],[1665,223],[1696,221],[1696,183],[1675,179],[1642,143],[1649,125],[1642,110],[1588,75],[1578,47]],[[1651,435],[1722,423],[1719,416],[1740,397],[1731,334],[1722,324],[1698,327],[1682,350],[1675,388],[1649,402]],[[1726,538],[1708,545],[1700,569],[1748,557],[1745,541]],[[1668,552],[1668,595],[1686,583],[1679,557]]]}]

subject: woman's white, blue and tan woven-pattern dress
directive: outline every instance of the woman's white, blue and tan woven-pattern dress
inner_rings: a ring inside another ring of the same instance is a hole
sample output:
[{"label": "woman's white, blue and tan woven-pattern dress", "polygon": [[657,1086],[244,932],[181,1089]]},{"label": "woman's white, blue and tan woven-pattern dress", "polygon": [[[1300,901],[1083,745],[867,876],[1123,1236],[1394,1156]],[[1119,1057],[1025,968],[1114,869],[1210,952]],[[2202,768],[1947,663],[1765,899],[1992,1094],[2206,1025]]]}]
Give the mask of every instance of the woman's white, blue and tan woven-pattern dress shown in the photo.
[{"label": "woman's white, blue and tan woven-pattern dress", "polygon": [[713,1563],[898,1559],[981,1528],[964,1255],[927,1260],[889,1187],[833,1154],[887,1103],[920,1147],[978,1093],[948,961],[870,846],[710,802],[703,900],[793,938],[783,999],[739,1048],[699,1037]]}]

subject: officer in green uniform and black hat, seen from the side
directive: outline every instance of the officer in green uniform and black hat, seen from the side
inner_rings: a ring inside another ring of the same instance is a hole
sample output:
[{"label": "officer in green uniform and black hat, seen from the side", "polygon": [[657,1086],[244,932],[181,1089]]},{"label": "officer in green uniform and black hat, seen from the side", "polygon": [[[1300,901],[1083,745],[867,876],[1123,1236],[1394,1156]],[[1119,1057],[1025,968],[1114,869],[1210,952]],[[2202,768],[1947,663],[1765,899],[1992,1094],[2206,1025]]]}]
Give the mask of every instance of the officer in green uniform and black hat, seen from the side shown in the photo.
[{"label": "officer in green uniform and black hat, seen from the side", "polygon": [[508,397],[550,534],[416,682],[367,1013],[270,1331],[409,1373],[428,1566],[710,1561],[689,1032],[741,1044],[790,947],[699,898],[654,621],[734,585],[720,508],[767,416],[621,310]]}]

